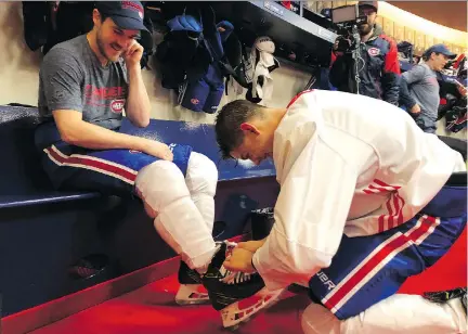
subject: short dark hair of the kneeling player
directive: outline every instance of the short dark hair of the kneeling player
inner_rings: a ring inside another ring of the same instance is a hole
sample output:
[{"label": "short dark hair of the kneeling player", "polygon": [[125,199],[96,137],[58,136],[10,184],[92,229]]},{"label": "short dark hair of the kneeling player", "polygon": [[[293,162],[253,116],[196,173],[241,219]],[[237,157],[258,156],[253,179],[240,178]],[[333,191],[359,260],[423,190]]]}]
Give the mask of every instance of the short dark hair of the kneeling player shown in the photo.
[{"label": "short dark hair of the kneeling player", "polygon": [[246,100],[230,102],[221,108],[216,118],[214,131],[222,158],[231,158],[231,152],[243,142],[240,125],[253,116],[261,116],[264,108]]}]

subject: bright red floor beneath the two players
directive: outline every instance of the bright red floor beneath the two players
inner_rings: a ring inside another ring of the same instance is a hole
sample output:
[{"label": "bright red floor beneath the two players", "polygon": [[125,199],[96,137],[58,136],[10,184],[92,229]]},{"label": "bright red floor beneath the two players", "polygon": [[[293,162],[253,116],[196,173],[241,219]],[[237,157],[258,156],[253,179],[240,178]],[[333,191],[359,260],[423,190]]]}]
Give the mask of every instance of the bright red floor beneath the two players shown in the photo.
[{"label": "bright red floor beneath the two players", "polygon": [[[413,277],[401,293],[420,294],[466,286],[467,231],[437,265]],[[177,306],[173,301],[177,277],[165,278],[120,297],[73,314],[34,334],[145,334],[226,333],[219,313],[210,306]],[[236,333],[301,333],[300,313],[309,304],[304,294],[287,293],[283,300],[260,312]]]}]

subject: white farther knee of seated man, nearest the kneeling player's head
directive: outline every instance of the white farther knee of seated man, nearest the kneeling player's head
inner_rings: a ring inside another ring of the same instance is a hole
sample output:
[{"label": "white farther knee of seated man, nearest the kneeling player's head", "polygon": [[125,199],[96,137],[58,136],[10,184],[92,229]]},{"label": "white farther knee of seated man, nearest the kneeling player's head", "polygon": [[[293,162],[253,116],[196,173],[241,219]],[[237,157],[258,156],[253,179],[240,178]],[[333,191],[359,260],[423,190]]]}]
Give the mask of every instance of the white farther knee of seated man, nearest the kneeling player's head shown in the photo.
[{"label": "white farther knee of seated man, nearest the kneeling player's head", "polygon": [[213,197],[218,184],[218,168],[206,155],[192,152],[185,181],[191,194],[203,192]]}]

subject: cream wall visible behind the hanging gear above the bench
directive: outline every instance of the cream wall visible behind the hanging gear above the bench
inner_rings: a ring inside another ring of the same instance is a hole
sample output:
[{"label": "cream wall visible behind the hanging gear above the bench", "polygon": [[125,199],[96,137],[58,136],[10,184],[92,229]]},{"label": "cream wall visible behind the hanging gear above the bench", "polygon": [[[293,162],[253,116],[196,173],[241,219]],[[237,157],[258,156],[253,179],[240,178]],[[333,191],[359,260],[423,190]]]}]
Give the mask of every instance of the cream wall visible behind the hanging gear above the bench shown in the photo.
[{"label": "cream wall visible behind the hanging gear above the bench", "polygon": [[[0,2],[0,104],[11,102],[37,105],[38,70],[42,59],[40,51],[31,52],[24,42],[23,15],[21,2]],[[285,106],[287,102],[306,86],[310,75],[295,68],[281,67],[273,72],[275,82],[273,97],[264,101],[268,106]],[[177,106],[176,93],[161,88],[156,72],[144,70],[143,78],[152,102],[152,117],[197,123],[212,123],[213,115],[194,113]],[[243,99],[245,94],[235,95],[233,89],[224,95],[221,105]],[[440,134],[445,132],[440,124]],[[455,137],[466,138],[466,130]]]}]

